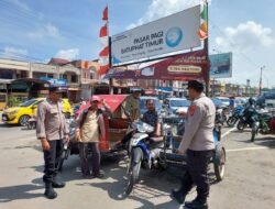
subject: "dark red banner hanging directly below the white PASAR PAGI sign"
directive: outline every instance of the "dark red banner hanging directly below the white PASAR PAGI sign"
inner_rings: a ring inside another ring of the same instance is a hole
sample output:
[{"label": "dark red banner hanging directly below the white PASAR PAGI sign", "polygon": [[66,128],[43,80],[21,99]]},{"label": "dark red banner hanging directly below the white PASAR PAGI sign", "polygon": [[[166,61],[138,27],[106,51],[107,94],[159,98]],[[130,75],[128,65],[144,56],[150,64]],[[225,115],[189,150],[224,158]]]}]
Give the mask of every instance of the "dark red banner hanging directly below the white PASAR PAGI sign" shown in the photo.
[{"label": "dark red banner hanging directly below the white PASAR PAGI sign", "polygon": [[111,68],[105,76],[105,79],[204,79],[208,68],[209,62],[207,61],[206,52],[197,51],[176,55],[135,70],[127,70],[120,67]]}]

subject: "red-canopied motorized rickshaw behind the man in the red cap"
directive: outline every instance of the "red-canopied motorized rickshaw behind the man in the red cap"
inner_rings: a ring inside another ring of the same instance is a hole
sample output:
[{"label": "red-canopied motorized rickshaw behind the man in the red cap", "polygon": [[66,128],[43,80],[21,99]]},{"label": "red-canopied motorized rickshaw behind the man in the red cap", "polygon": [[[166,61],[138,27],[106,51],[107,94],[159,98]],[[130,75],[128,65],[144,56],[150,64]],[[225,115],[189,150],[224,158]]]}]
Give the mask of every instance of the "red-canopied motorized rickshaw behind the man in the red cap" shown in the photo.
[{"label": "red-canopied motorized rickshaw behind the man in the red cap", "polygon": [[[111,114],[105,116],[106,136],[99,139],[99,147],[103,155],[116,154],[122,151],[121,140],[127,133],[131,123],[124,114],[123,106],[128,95],[97,95],[110,107]],[[78,117],[84,110],[89,108],[89,102],[77,111]],[[99,107],[100,108],[100,107]],[[58,163],[58,169],[62,170],[63,163],[69,155],[79,154],[78,142],[75,141],[76,119],[67,120],[69,125],[69,143],[64,145],[63,155]]]}]

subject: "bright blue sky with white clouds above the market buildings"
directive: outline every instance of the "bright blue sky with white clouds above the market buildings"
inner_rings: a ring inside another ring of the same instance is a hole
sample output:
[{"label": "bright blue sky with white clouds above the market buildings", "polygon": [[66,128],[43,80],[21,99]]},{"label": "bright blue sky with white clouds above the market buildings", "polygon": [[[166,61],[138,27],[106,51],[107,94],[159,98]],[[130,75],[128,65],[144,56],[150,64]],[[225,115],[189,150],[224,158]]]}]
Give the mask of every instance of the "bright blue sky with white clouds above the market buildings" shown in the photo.
[{"label": "bright blue sky with white clouds above the market buildings", "polygon": [[[0,56],[47,62],[98,58],[102,10],[117,34],[200,0],[0,0]],[[275,86],[274,0],[211,0],[210,53],[233,52],[231,82]]]}]

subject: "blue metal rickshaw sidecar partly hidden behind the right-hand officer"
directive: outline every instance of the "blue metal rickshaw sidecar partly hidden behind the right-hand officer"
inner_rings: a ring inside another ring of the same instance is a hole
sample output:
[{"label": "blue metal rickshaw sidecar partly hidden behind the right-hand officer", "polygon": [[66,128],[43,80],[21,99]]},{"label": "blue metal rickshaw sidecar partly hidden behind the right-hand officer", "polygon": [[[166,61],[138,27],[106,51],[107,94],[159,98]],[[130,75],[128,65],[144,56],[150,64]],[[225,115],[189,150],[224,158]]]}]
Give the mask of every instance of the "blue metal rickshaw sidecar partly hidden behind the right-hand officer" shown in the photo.
[{"label": "blue metal rickshaw sidecar partly hidden behind the right-hand officer", "polygon": [[[168,125],[169,129],[164,136],[164,147],[161,151],[161,163],[163,166],[177,166],[177,167],[185,167],[186,166],[186,156],[179,155],[176,153],[180,141],[183,140],[184,135],[184,123],[185,118],[178,117],[169,117],[164,118],[163,123],[164,125]],[[210,163],[213,164],[215,175],[217,180],[222,180],[226,170],[226,148],[222,146],[221,140],[221,127],[216,125],[213,129],[213,139],[215,139],[215,152]]]}]

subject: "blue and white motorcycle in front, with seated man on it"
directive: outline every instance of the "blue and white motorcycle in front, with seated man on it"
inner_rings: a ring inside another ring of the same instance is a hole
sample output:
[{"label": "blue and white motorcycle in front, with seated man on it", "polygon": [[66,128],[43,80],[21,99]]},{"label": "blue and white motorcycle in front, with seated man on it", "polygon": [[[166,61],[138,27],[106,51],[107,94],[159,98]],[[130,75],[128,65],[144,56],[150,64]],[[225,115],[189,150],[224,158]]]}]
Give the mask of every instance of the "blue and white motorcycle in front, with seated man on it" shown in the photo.
[{"label": "blue and white motorcycle in front, with seated man on it", "polygon": [[163,136],[151,138],[154,128],[143,121],[134,121],[131,124],[134,130],[129,143],[128,185],[125,195],[130,195],[134,184],[139,180],[140,169],[158,168],[160,153],[164,145]]}]

